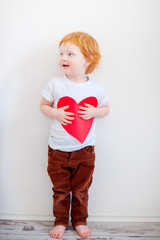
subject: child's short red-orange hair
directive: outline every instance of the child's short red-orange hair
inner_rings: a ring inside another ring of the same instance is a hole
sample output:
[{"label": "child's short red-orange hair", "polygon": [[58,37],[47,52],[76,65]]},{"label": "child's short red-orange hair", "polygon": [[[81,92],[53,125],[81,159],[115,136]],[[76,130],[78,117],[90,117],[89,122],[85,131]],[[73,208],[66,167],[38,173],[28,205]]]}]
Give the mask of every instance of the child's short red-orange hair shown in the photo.
[{"label": "child's short red-orange hair", "polygon": [[90,60],[91,64],[86,69],[86,74],[92,73],[95,67],[98,66],[101,58],[97,41],[88,33],[73,32],[62,38],[59,43],[59,47],[62,45],[62,43],[65,44],[67,42],[79,47],[84,57]]}]

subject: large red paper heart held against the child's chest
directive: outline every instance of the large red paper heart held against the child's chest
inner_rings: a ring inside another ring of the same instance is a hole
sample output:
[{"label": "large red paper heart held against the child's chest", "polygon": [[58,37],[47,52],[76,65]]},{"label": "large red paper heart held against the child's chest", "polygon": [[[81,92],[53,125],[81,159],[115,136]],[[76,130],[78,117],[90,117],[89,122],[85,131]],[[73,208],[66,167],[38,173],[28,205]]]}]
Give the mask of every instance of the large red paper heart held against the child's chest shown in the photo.
[{"label": "large red paper heart held against the child's chest", "polygon": [[84,120],[80,118],[77,113],[80,106],[84,107],[84,103],[88,103],[94,107],[97,107],[98,101],[95,97],[87,97],[83,99],[80,103],[77,103],[71,97],[62,97],[57,103],[57,108],[69,105],[69,108],[66,111],[74,113],[74,120],[72,120],[72,123],[68,125],[62,125],[62,127],[71,136],[75,137],[80,143],[83,143],[86,139],[93,123],[93,118],[90,118],[89,120]]}]

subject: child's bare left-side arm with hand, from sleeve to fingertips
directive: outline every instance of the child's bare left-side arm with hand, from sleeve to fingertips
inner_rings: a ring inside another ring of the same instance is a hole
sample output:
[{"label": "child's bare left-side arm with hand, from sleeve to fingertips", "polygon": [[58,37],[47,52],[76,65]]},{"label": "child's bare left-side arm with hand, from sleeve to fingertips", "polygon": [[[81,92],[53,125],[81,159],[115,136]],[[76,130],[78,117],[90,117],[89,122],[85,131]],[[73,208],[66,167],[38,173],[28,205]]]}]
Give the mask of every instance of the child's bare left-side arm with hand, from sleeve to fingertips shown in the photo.
[{"label": "child's bare left-side arm with hand, from sleeve to fingertips", "polygon": [[73,117],[70,117],[71,115],[74,115],[74,113],[65,112],[65,110],[68,108],[69,106],[64,106],[62,108],[55,109],[53,108],[53,102],[49,102],[45,98],[42,98],[40,104],[41,112],[45,116],[49,118],[55,118],[63,125],[71,124],[71,120],[74,120]]}]

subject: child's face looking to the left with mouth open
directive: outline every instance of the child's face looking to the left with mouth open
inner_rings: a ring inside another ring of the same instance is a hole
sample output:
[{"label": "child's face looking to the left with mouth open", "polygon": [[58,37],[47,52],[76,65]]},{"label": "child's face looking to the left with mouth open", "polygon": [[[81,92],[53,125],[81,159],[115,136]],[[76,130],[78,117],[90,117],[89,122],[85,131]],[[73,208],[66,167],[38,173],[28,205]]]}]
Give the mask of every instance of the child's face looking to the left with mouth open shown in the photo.
[{"label": "child's face looking to the left with mouth open", "polygon": [[90,61],[84,57],[79,47],[71,43],[63,43],[59,50],[59,65],[65,75],[68,77],[85,75]]}]

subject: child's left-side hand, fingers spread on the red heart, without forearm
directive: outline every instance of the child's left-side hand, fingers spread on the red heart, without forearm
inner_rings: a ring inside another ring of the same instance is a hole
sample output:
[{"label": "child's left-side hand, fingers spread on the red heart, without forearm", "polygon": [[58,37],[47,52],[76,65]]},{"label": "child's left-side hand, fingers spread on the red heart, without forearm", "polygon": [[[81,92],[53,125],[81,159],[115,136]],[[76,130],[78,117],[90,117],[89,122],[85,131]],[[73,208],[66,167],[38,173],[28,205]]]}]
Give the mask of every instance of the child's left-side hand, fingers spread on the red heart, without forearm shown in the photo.
[{"label": "child's left-side hand, fingers spread on the red heart, without forearm", "polygon": [[62,125],[71,124],[72,123],[71,120],[74,120],[74,117],[69,117],[69,116],[73,116],[74,113],[65,112],[65,110],[68,108],[69,106],[64,106],[56,109],[55,119],[57,119]]}]

